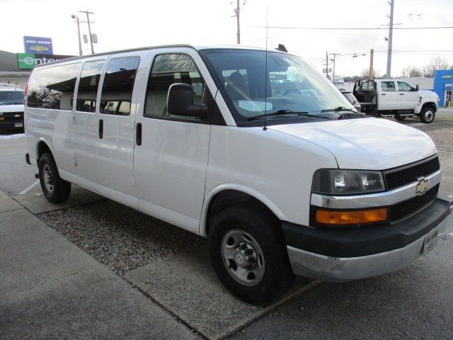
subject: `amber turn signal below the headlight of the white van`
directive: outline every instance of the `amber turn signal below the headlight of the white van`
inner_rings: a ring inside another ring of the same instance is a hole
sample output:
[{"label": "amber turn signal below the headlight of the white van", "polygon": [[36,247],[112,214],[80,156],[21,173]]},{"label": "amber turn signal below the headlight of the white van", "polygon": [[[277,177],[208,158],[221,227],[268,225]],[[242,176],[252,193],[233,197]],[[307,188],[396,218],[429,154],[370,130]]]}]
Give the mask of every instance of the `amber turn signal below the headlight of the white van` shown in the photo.
[{"label": "amber turn signal below the headlight of the white van", "polygon": [[316,222],[322,225],[362,225],[387,220],[387,208],[368,210],[316,210]]}]

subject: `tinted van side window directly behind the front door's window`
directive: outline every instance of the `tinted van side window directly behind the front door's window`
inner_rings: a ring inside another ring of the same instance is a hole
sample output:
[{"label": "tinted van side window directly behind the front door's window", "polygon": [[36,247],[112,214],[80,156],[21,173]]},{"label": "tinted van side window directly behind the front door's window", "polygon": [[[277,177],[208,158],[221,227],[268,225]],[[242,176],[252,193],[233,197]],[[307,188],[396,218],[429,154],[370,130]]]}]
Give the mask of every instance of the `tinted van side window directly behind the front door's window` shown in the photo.
[{"label": "tinted van side window directly behind the front door's window", "polygon": [[115,58],[105,69],[99,112],[107,115],[129,115],[139,57]]}]

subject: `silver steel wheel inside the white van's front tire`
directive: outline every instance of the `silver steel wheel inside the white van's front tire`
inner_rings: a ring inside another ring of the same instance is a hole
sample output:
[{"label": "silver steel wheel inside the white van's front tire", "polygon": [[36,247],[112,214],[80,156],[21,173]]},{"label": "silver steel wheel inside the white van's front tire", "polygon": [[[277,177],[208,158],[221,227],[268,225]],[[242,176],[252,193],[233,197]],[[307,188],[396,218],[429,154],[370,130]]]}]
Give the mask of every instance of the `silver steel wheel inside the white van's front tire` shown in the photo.
[{"label": "silver steel wheel inside the white van's front tire", "polygon": [[242,285],[257,285],[263,279],[263,251],[256,239],[241,229],[231,229],[221,244],[222,260],[234,280]]}]

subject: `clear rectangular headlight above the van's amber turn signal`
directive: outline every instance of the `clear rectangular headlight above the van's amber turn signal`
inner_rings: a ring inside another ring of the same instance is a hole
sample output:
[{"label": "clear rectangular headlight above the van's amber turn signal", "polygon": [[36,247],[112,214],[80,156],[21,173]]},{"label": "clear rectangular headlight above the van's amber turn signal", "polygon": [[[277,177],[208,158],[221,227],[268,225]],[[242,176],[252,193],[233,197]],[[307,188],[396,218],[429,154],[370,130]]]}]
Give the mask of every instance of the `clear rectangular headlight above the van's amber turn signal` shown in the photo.
[{"label": "clear rectangular headlight above the van's amber turn signal", "polygon": [[320,169],[314,173],[313,193],[326,195],[352,195],[385,191],[379,171]]}]

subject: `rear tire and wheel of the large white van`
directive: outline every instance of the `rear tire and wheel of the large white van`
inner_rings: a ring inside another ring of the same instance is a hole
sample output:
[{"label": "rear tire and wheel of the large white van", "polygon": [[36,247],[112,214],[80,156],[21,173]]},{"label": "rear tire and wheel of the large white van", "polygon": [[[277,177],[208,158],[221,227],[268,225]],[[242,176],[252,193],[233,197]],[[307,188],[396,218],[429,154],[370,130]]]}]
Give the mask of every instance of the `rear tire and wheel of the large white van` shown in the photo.
[{"label": "rear tire and wheel of the large white van", "polygon": [[45,153],[38,163],[42,193],[50,203],[62,203],[69,198],[71,183],[61,179],[52,154]]}]

